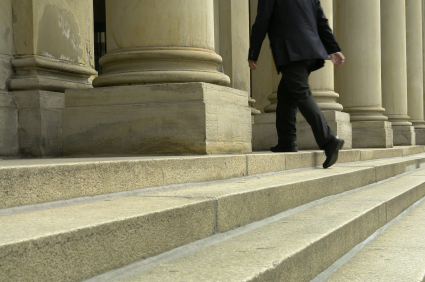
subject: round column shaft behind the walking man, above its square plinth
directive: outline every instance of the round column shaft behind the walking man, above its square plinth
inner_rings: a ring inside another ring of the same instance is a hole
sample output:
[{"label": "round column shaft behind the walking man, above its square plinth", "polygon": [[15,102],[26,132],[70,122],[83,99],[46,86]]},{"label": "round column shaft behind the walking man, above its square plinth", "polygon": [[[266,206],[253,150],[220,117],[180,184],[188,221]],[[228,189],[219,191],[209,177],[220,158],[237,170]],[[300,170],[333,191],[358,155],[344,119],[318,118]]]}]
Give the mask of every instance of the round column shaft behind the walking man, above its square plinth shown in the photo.
[{"label": "round column shaft behind the walking man, above its square plinth", "polygon": [[[333,28],[332,0],[322,0],[320,2],[328,18],[329,26]],[[322,111],[342,111],[342,105],[336,102],[339,95],[334,91],[334,66],[332,63],[327,62],[324,68],[311,74],[310,88]]]}]

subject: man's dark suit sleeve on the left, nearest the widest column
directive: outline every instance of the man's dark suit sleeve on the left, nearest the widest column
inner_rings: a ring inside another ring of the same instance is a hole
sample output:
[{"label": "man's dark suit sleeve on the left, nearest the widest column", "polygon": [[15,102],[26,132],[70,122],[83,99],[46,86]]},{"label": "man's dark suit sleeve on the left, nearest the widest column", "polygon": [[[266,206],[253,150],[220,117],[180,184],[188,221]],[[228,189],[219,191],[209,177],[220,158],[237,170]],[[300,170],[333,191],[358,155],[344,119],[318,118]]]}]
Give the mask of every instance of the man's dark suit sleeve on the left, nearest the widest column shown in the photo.
[{"label": "man's dark suit sleeve on the left, nearest the widest column", "polygon": [[248,60],[258,60],[261,46],[269,30],[275,1],[276,0],[258,0],[257,18],[252,26]]}]

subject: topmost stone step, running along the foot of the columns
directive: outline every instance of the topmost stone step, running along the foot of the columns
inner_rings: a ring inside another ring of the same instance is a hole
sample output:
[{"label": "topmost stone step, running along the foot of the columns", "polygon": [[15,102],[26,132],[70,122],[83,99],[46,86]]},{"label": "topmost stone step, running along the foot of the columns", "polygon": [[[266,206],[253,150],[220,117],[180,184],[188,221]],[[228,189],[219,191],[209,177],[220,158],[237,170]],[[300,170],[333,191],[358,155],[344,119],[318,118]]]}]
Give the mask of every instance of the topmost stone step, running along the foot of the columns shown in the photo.
[{"label": "topmost stone step, running along the foot of the columns", "polygon": [[[425,146],[355,149],[339,163],[403,157]],[[321,166],[322,151],[0,161],[0,208]]]}]

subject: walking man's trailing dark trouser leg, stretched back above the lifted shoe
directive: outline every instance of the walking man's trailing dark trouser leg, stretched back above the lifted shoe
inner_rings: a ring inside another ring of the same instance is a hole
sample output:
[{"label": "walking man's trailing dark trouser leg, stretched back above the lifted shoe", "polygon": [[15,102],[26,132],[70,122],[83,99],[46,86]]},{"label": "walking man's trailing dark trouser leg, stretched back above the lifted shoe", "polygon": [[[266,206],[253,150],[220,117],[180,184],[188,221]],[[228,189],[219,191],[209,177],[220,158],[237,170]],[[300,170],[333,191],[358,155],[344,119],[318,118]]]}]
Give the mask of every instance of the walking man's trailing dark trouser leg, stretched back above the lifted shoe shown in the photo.
[{"label": "walking man's trailing dark trouser leg, stretched back above the lifted shoe", "polygon": [[[282,72],[281,85],[285,85],[285,92],[282,93],[284,96],[283,99],[292,102],[291,104],[299,108],[301,114],[313,130],[316,143],[320,149],[324,149],[328,142],[335,139],[335,134],[329,128],[308,85],[310,69],[314,65],[314,62],[315,60],[292,62],[289,65],[279,67],[279,70]],[[280,96],[278,94],[278,107],[279,98]]]}]

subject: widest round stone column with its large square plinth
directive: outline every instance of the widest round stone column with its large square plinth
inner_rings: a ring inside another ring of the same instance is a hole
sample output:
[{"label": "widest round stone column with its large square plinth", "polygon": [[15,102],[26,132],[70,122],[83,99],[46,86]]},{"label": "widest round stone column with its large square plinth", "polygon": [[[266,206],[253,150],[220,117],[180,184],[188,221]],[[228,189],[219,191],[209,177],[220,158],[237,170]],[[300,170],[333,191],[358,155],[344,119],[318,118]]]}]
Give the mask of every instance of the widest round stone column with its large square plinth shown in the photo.
[{"label": "widest round stone column with its large square plinth", "polygon": [[213,0],[106,0],[105,74],[65,93],[64,154],[251,152],[248,93],[224,87],[214,18]]}]

